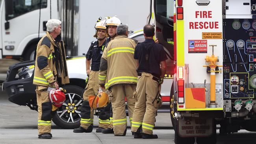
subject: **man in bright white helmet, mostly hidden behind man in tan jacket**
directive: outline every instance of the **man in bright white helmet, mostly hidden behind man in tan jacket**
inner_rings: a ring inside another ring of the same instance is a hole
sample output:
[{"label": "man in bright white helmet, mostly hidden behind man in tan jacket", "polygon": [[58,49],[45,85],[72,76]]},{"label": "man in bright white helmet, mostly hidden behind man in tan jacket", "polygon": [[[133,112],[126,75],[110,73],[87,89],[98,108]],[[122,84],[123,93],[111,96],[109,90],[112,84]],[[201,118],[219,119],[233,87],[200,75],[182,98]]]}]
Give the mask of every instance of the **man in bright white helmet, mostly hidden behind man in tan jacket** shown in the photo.
[{"label": "man in bright white helmet, mostly hidden behind man in tan jacket", "polygon": [[[115,37],[117,36],[116,34],[116,31],[117,31],[117,26],[119,26],[121,24],[121,20],[119,20],[119,18],[117,17],[111,17],[111,18],[108,18],[106,20],[106,28],[107,28],[107,32],[108,32],[108,35],[109,35],[109,38],[106,40],[107,41],[107,44],[109,41],[115,39]],[[106,46],[107,46],[106,44]],[[110,103],[111,105],[111,103]],[[106,110],[109,111],[110,113],[110,124],[109,124],[109,127],[108,129],[103,129],[102,130],[102,133],[114,133],[113,131],[113,113],[112,113],[112,107],[110,107],[110,109],[108,109],[109,107],[106,107]]]}]

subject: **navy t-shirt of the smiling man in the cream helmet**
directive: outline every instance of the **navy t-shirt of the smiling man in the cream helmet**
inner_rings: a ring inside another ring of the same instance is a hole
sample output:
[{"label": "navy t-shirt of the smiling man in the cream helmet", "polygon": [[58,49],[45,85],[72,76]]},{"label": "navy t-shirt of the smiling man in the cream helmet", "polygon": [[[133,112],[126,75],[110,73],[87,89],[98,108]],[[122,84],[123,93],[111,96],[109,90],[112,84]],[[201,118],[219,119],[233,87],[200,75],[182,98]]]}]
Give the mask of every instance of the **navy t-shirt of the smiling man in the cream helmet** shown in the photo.
[{"label": "navy t-shirt of the smiling man in the cream helmet", "polygon": [[103,54],[103,50],[106,46],[106,41],[102,46],[98,46],[98,41],[91,42],[91,46],[85,55],[87,60],[91,60],[91,70],[99,71],[100,70],[100,59]]}]

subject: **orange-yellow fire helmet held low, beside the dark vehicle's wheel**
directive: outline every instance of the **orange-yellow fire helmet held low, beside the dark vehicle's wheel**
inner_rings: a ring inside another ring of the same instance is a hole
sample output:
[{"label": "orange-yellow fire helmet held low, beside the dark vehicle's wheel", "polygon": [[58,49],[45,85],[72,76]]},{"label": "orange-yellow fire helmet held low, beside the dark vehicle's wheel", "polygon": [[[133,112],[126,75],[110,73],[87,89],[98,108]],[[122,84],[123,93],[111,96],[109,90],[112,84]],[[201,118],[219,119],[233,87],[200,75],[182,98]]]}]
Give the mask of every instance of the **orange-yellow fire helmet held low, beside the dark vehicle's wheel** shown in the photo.
[{"label": "orange-yellow fire helmet held low, beside the dark vehicle's wheel", "polygon": [[88,99],[92,109],[106,107],[108,104],[108,94],[106,92],[100,92],[97,94],[97,96],[88,96]]}]

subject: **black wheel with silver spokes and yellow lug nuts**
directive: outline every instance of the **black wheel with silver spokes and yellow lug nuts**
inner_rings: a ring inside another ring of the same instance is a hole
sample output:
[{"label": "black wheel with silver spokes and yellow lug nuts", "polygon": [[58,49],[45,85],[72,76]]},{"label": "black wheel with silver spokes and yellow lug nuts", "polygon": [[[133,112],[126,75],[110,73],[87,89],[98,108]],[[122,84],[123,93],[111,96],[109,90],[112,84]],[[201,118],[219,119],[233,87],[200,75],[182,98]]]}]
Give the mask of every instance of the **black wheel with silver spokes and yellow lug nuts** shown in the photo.
[{"label": "black wheel with silver spokes and yellow lug nuts", "polygon": [[[76,85],[67,85],[63,88],[67,90],[65,93],[66,100],[63,105],[58,108],[52,121],[63,129],[74,129],[80,126],[83,89]],[[71,105],[74,107],[70,109]],[[72,110],[74,110],[73,113]]]}]

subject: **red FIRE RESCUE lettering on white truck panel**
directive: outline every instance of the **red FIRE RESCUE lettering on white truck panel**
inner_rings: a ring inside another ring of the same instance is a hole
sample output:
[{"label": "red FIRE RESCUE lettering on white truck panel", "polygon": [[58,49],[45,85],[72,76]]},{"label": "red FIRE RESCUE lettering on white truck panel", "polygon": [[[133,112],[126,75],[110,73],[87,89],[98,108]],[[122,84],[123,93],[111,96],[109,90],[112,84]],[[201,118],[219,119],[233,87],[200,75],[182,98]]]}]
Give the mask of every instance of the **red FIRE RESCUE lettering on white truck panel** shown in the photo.
[{"label": "red FIRE RESCUE lettering on white truck panel", "polygon": [[[195,18],[212,18],[212,11],[195,11]],[[189,29],[214,28],[219,28],[219,22],[189,22]]]}]

